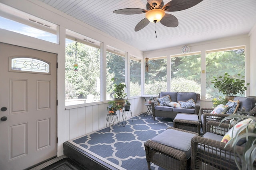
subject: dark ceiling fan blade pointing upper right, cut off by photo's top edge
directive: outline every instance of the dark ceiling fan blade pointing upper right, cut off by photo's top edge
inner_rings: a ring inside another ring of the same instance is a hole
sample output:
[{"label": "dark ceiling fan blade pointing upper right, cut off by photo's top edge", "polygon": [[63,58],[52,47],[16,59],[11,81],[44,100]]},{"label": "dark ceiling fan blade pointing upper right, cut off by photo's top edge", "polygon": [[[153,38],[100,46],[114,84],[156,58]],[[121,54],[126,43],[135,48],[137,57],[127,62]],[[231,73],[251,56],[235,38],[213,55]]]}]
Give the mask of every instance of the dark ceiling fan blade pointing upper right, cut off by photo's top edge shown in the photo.
[{"label": "dark ceiling fan blade pointing upper right, cut off by photo's top edge", "polygon": [[202,0],[171,0],[162,8],[164,11],[181,11],[191,8]]}]

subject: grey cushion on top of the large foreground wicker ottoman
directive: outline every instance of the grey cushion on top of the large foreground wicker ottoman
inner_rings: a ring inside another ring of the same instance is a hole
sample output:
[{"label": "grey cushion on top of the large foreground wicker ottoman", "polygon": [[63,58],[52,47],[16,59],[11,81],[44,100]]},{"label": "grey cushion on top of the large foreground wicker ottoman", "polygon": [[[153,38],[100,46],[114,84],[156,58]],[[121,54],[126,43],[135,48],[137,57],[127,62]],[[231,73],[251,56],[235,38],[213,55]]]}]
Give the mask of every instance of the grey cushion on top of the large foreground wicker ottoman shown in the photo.
[{"label": "grey cushion on top of the large foreground wicker ottoman", "polygon": [[191,156],[191,139],[194,136],[197,135],[174,129],[167,129],[166,131],[152,138],[152,141],[180,150],[184,152],[187,159],[189,159]]}]

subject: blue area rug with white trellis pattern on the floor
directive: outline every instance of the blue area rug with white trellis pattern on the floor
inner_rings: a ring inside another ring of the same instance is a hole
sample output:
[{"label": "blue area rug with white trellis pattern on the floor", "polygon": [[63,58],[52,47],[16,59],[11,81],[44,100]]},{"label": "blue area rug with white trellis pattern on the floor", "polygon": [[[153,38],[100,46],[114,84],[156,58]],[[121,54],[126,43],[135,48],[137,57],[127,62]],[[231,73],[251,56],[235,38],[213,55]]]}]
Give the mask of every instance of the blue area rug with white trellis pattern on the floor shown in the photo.
[{"label": "blue area rug with white trellis pattern on the floor", "polygon": [[[100,158],[118,169],[147,170],[144,143],[172,126],[172,119],[144,114],[118,124],[69,141],[73,145]],[[151,164],[151,170],[162,168]]]}]

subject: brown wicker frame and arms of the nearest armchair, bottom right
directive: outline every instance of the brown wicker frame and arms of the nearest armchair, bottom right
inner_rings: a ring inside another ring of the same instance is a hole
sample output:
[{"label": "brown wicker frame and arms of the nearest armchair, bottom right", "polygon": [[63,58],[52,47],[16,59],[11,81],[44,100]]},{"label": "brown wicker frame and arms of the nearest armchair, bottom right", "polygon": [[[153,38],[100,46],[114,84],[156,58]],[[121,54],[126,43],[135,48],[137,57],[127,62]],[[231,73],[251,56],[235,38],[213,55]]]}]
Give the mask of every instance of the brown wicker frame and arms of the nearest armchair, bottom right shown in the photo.
[{"label": "brown wicker frame and arms of the nearest armchair, bottom right", "polygon": [[[229,130],[229,124],[216,121],[208,121],[206,123],[206,132],[222,135]],[[231,127],[230,127],[231,128]],[[191,169],[200,170],[236,170],[236,160],[241,164],[242,160],[237,154],[234,154],[234,149],[231,145],[225,146],[226,143],[215,141],[204,137],[194,137],[191,140]],[[243,147],[236,146],[236,151],[240,154],[243,152]]]}]

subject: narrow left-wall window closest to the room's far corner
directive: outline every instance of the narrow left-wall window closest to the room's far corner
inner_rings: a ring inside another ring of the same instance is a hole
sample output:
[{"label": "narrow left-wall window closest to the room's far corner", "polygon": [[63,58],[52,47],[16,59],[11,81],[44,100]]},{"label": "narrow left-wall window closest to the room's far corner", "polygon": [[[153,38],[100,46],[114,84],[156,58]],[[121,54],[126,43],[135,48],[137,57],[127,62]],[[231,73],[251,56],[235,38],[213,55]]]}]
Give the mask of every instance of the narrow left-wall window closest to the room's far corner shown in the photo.
[{"label": "narrow left-wall window closest to the room's far corner", "polygon": [[141,60],[130,59],[130,97],[140,96],[141,86],[140,86],[140,68]]}]

